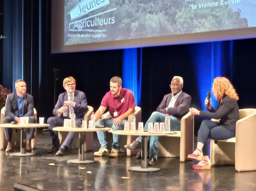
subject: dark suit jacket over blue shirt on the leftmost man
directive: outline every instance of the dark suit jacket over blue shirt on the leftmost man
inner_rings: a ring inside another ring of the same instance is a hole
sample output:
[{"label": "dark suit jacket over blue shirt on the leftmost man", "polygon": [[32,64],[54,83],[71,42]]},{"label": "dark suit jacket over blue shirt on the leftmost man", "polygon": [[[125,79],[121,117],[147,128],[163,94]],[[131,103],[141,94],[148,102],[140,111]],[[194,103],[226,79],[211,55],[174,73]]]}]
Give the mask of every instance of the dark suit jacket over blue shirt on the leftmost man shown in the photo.
[{"label": "dark suit jacket over blue shirt on the leftmost man", "polygon": [[[33,116],[34,114],[34,99],[33,96],[25,93],[25,97],[22,100],[21,111],[24,117]],[[10,116],[12,119],[14,116],[19,115],[18,97],[17,92],[13,92],[7,95],[5,102],[5,116]]]}]

